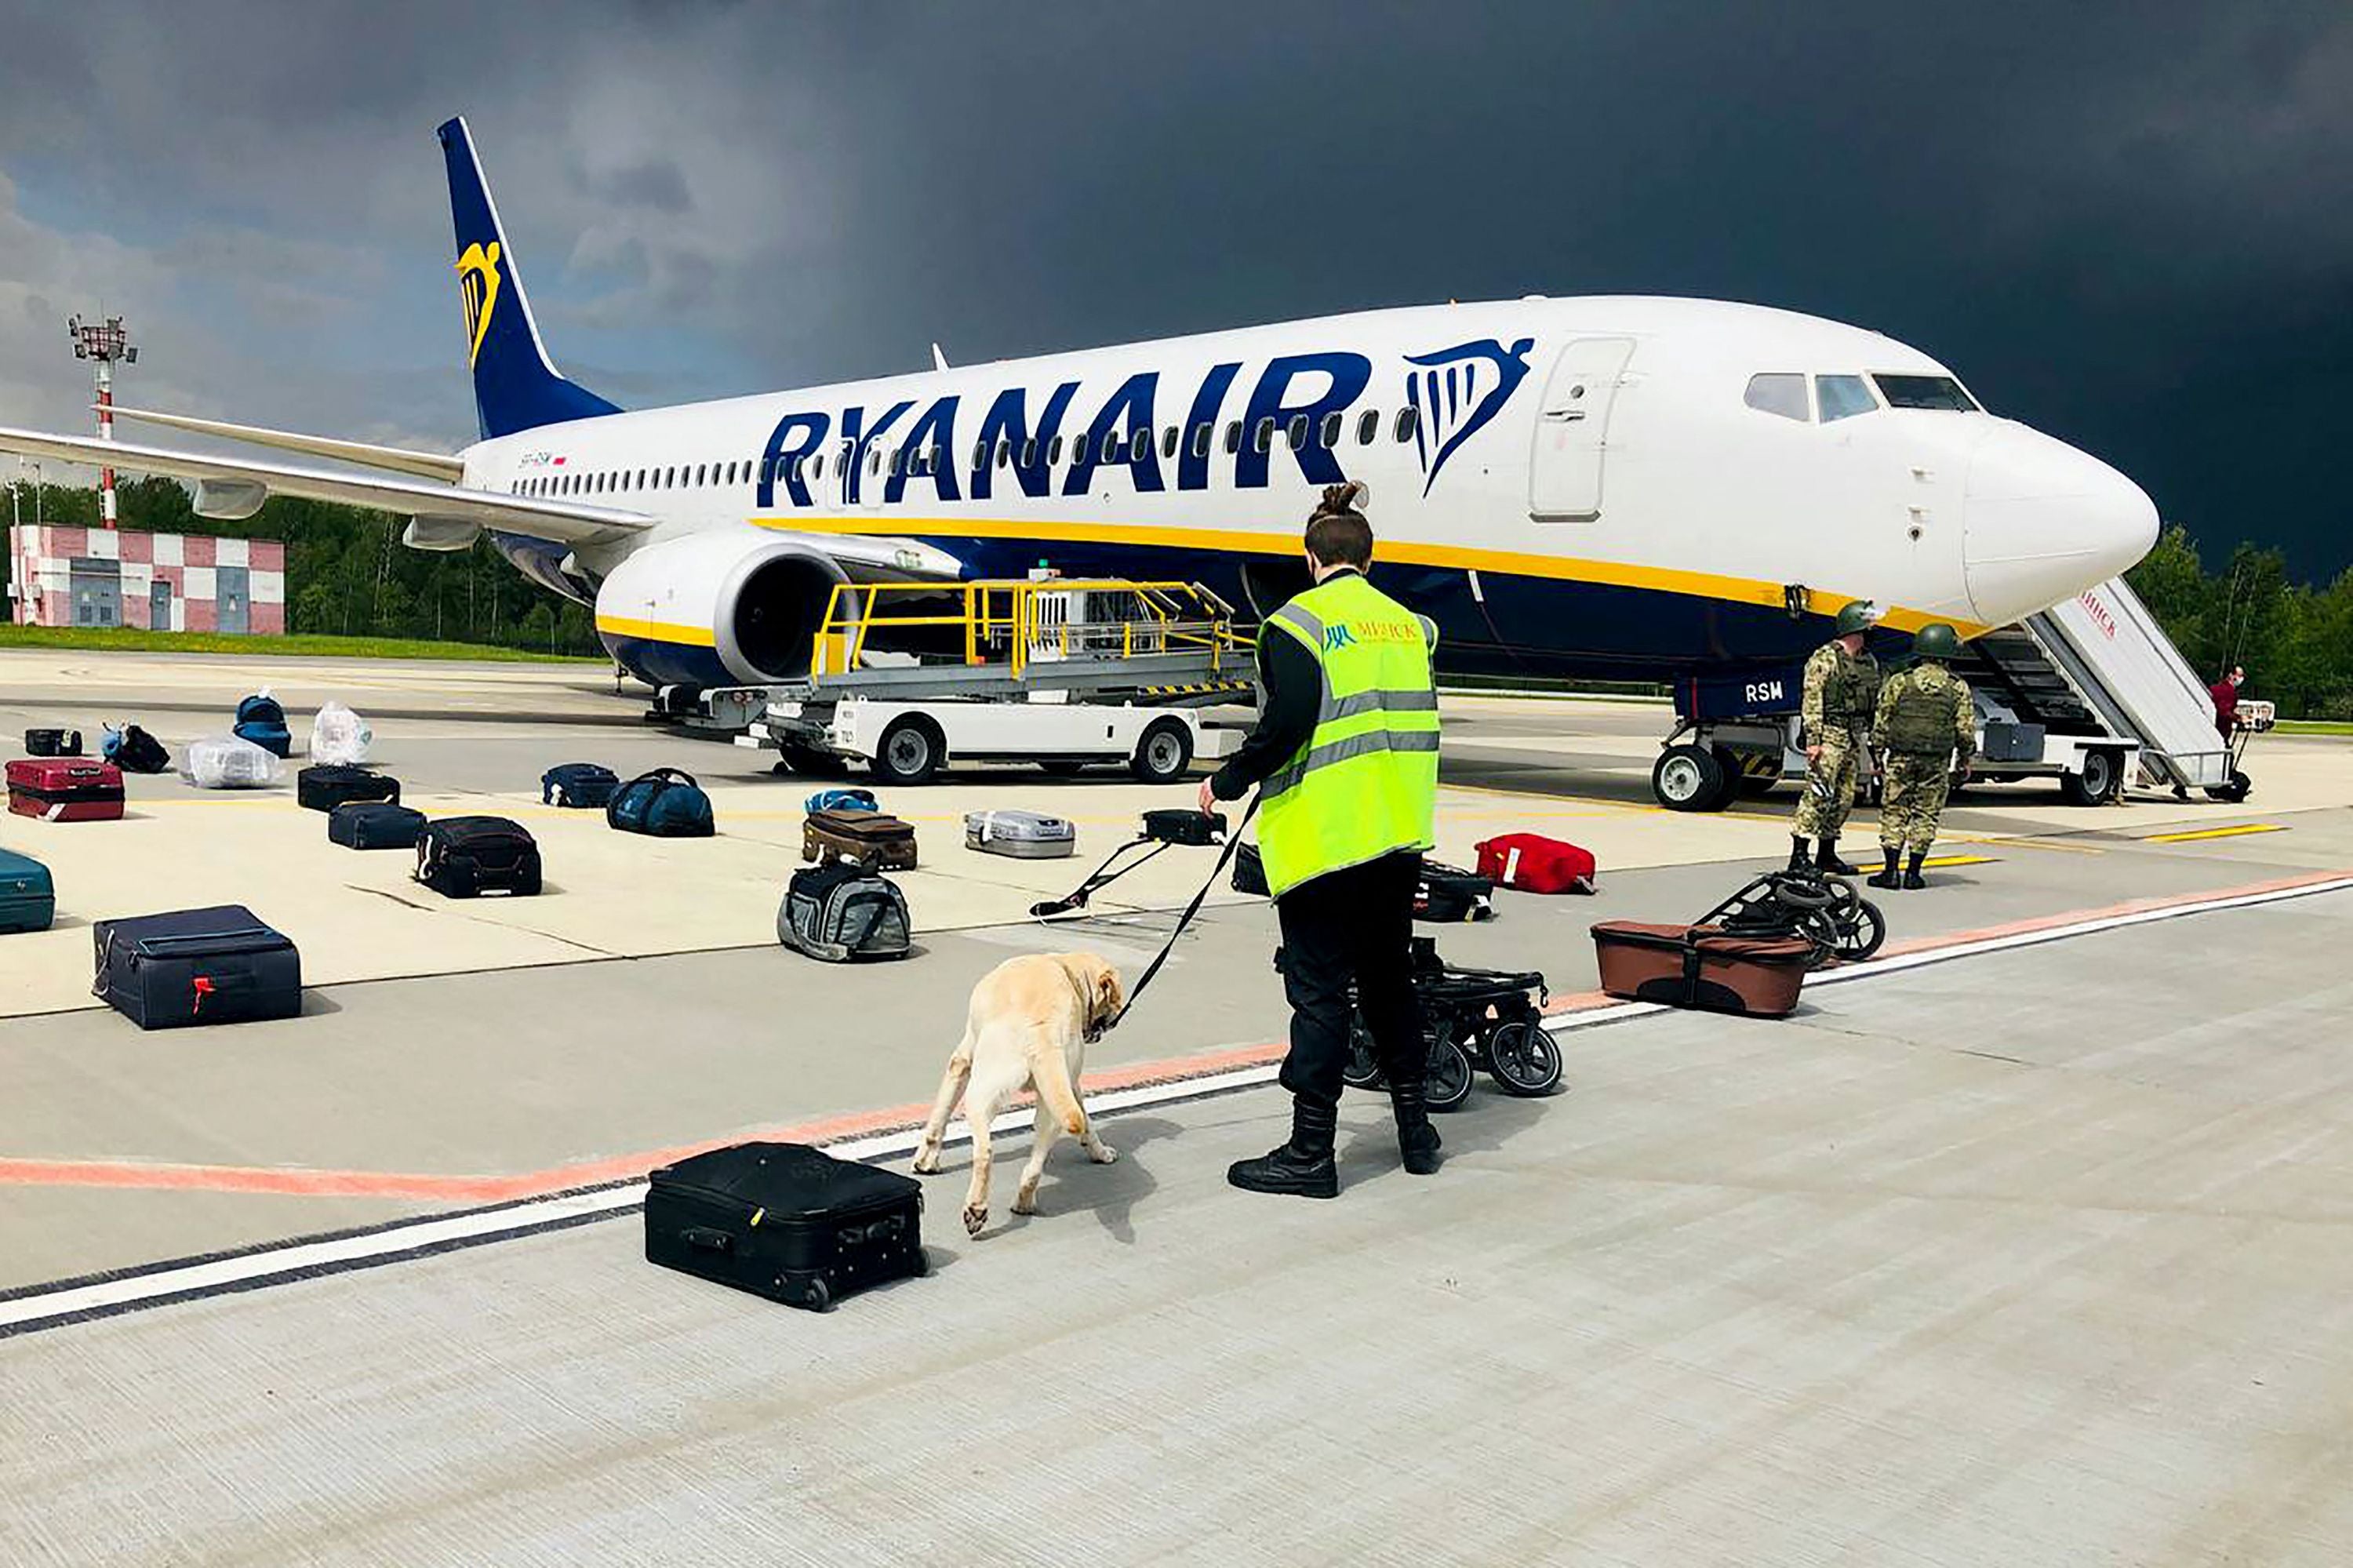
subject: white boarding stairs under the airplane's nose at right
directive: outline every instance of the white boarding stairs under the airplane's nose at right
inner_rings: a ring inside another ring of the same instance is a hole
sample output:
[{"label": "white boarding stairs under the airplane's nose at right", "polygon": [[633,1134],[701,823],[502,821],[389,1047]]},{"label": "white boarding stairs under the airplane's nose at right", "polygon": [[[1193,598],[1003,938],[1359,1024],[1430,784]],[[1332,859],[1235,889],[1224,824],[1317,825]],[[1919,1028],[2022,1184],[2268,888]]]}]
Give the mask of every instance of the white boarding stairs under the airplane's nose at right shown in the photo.
[{"label": "white boarding stairs under the airplane's nose at right", "polygon": [[1981,723],[2134,739],[2144,775],[2160,786],[2231,779],[2205,683],[2122,577],[1979,636],[1955,669]]}]

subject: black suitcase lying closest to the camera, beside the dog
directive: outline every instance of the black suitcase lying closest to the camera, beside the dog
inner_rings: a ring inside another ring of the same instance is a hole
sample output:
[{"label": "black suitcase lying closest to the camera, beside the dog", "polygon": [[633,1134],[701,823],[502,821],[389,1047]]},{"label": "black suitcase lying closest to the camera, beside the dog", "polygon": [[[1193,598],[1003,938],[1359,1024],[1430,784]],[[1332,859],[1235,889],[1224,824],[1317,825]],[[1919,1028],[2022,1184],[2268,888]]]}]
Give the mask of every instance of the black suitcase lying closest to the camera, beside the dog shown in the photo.
[{"label": "black suitcase lying closest to the camera, beside the dog", "polygon": [[929,1274],[922,1184],[807,1144],[734,1144],[664,1165],[645,1187],[645,1260],[826,1311]]}]

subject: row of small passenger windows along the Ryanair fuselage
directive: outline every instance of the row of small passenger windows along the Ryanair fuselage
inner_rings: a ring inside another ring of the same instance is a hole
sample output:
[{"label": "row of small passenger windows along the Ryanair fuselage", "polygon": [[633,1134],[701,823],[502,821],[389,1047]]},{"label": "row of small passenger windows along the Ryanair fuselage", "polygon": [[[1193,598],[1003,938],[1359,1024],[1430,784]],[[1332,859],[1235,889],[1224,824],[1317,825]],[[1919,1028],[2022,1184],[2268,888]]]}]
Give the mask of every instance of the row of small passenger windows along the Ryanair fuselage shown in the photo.
[{"label": "row of small passenger windows along the Ryanair fuselage", "polygon": [[[1800,388],[1800,396],[1802,396],[1802,388]],[[1398,414],[1395,414],[1395,419],[1388,421],[1388,426],[1391,426],[1391,440],[1400,440],[1400,443],[1412,440],[1414,433],[1417,433],[1417,428],[1421,426],[1421,412],[1414,410],[1414,407],[1400,407]],[[1306,414],[1292,414],[1289,424],[1280,426],[1280,431],[1278,431],[1278,424],[1273,419],[1259,419],[1259,424],[1249,431],[1249,445],[1252,445],[1252,450],[1254,452],[1271,452],[1273,445],[1275,445],[1278,433],[1285,440],[1285,445],[1289,445],[1289,450],[1294,450],[1294,452],[1299,452],[1301,447],[1308,447],[1308,445],[1339,447],[1339,445],[1344,445],[1344,438],[1348,436],[1348,417],[1339,414],[1339,412],[1332,412],[1332,414],[1325,414],[1320,421],[1311,421]],[[1379,410],[1365,410],[1362,414],[1355,417],[1355,445],[1369,447],[1374,440],[1379,440],[1379,436],[1381,436],[1381,412]],[[1193,431],[1191,431],[1191,440],[1186,440],[1186,428],[1184,426],[1172,424],[1165,431],[1160,431],[1160,457],[1176,457],[1179,443],[1186,443],[1188,450],[1193,452],[1193,457],[1207,457],[1209,454],[1209,445],[1212,445],[1214,438],[1217,438],[1217,426],[1209,424],[1209,421],[1195,424]],[[1151,443],[1153,443],[1153,433],[1148,428],[1134,428],[1134,431],[1125,431],[1125,433],[1122,431],[1106,431],[1104,440],[1101,440],[1101,452],[1096,454],[1094,461],[1099,461],[1099,464],[1134,461],[1134,457],[1144,457],[1151,450]],[[1045,461],[1049,466],[1061,464],[1064,447],[1066,447],[1066,443],[1064,443],[1061,436],[1054,436],[1052,440],[1047,440],[1045,443]],[[1240,419],[1233,419],[1233,421],[1226,424],[1224,447],[1226,447],[1226,452],[1240,452],[1242,450],[1242,421]],[[1082,438],[1082,436],[1068,438],[1068,459],[1073,464],[1085,461],[1087,450],[1089,450],[1087,447],[1087,438]],[[786,461],[786,459],[779,457],[776,459],[776,478],[781,480],[788,471],[798,471],[805,480],[821,480],[821,478],[826,478],[826,459],[828,457],[833,459],[833,473],[835,473],[835,478],[840,478],[842,469],[852,461],[854,452],[856,452],[856,443],[849,440],[849,438],[842,438],[828,452],[814,452],[809,457],[793,459],[793,461]],[[979,473],[981,469],[986,469],[991,464],[991,457],[995,457],[995,466],[998,469],[1012,469],[1014,466],[1014,443],[1012,443],[1012,438],[998,440],[993,454],[991,454],[991,447],[988,447],[986,440],[972,443],[972,471],[974,473]],[[1038,466],[1038,438],[1035,436],[1028,438],[1028,440],[1024,440],[1024,443],[1019,443],[1019,457],[1021,457],[1021,466],[1024,469],[1035,469]],[[866,473],[880,476],[885,471],[885,466],[887,466],[889,473],[906,473],[911,478],[925,478],[925,476],[939,473],[939,459],[941,459],[941,450],[936,445],[932,445],[932,447],[892,447],[889,452],[885,452],[880,445],[871,445],[871,447],[866,447]],[[689,490],[689,487],[708,487],[708,485],[748,485],[758,476],[758,471],[760,471],[758,461],[692,464],[692,466],[673,466],[673,469],[616,469],[616,471],[600,469],[600,471],[593,471],[593,473],[546,473],[546,476],[539,476],[539,478],[511,480],[508,490],[513,494],[614,494],[614,492],[624,492],[624,490],[626,492]]]}]

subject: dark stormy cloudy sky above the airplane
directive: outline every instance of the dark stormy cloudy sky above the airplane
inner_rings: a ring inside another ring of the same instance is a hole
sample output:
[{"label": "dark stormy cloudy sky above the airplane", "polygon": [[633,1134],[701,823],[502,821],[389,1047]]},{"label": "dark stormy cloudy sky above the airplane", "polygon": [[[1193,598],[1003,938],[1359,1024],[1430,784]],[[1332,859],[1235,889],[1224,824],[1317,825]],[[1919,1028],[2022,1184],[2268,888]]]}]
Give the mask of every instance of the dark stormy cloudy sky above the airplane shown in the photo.
[{"label": "dark stormy cloudy sky above the airplane", "polygon": [[[0,64],[0,323],[104,287],[158,400],[461,440],[466,111],[558,358],[631,403],[1715,294],[1937,353],[2209,544],[2348,558],[2344,5],[245,9],[52,7]],[[0,414],[73,412],[49,334],[0,327]]]}]

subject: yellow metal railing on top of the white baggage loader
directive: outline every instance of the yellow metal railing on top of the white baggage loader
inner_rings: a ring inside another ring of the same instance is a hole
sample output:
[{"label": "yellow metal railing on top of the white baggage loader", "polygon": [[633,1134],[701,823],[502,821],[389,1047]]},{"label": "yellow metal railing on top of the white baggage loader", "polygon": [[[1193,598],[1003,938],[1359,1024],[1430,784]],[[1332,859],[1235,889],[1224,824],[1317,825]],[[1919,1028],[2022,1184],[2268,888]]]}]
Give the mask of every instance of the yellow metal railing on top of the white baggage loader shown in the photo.
[{"label": "yellow metal railing on top of the white baggage loader", "polygon": [[[1233,629],[1233,607],[1198,582],[842,582],[833,586],[826,619],[809,643],[809,673],[849,673],[866,657],[868,640],[887,645],[894,633],[908,631],[951,633],[941,640],[962,633],[965,664],[1009,664],[1014,678],[1033,662],[1167,652],[1202,652],[1212,671],[1224,671],[1249,647]],[[932,657],[941,655],[934,650]]]}]

